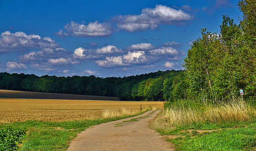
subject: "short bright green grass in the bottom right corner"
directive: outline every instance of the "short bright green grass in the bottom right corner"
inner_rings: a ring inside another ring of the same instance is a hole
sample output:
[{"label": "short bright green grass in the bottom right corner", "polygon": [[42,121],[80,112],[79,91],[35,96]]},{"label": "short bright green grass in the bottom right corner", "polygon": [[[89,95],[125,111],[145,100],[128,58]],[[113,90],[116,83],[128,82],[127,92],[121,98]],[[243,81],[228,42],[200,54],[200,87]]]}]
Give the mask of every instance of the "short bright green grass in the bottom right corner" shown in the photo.
[{"label": "short bright green grass in the bottom right corner", "polygon": [[192,131],[189,135],[168,141],[181,151],[251,151],[256,145],[255,129],[237,128],[204,134]]}]

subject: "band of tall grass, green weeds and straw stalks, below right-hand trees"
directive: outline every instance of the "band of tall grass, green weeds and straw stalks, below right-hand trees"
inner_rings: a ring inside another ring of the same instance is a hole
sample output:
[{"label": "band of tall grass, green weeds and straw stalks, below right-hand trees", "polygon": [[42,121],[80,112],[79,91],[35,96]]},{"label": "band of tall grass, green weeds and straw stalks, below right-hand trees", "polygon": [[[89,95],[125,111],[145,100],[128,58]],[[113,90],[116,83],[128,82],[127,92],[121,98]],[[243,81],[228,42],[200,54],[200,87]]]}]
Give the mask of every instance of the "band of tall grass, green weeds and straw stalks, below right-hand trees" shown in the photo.
[{"label": "band of tall grass, green weeds and straw stalks, below right-hand trees", "polygon": [[248,121],[255,113],[256,110],[253,107],[241,100],[219,104],[201,104],[182,100],[165,104],[165,119],[173,125]]}]

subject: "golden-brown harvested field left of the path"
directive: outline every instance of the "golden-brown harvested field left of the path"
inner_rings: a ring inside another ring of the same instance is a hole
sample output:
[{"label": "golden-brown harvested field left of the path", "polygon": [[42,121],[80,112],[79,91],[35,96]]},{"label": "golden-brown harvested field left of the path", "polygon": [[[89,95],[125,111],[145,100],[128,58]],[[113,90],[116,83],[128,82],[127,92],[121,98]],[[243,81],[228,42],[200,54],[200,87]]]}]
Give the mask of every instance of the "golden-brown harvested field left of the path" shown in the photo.
[{"label": "golden-brown harvested field left of the path", "polygon": [[0,123],[14,121],[75,121],[102,117],[103,112],[140,111],[140,105],[163,109],[163,102],[89,101],[0,98]]}]

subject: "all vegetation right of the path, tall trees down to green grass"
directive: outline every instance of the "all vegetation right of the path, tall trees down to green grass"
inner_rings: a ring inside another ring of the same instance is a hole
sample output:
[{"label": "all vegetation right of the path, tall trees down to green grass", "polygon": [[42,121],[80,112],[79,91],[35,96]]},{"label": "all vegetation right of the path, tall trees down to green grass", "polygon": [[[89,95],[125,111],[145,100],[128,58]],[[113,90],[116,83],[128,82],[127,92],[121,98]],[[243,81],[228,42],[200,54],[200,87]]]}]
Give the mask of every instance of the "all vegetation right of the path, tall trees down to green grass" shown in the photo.
[{"label": "all vegetation right of the path, tall trees down to green grass", "polygon": [[177,150],[256,150],[256,0],[238,7],[239,25],[223,15],[220,33],[202,29],[152,124]]}]

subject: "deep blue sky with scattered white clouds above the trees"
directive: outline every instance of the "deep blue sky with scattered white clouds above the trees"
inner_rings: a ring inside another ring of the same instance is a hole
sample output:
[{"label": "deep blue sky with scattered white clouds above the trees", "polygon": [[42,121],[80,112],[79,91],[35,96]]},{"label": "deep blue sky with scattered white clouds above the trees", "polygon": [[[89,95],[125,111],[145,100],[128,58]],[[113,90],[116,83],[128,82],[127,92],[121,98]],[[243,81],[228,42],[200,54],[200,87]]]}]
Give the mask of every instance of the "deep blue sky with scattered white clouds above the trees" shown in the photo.
[{"label": "deep blue sky with scattered white clouds above the trees", "polygon": [[0,0],[0,72],[123,77],[182,70],[238,0]]}]

